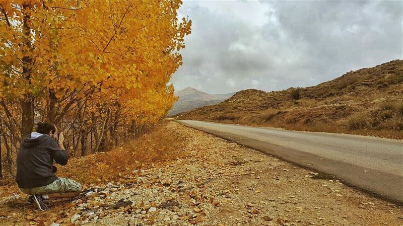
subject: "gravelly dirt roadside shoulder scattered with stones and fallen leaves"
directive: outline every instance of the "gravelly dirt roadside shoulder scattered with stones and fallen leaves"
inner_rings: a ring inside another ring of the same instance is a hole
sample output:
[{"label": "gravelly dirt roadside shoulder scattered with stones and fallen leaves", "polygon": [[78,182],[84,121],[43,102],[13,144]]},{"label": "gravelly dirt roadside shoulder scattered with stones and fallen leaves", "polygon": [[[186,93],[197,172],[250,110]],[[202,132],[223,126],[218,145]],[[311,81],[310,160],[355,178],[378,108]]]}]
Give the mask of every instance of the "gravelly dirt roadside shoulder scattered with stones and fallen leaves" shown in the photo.
[{"label": "gravelly dirt roadside shoulder scattered with stones and fallen leaves", "polygon": [[[57,213],[40,223],[403,225],[403,207],[176,122],[167,128],[186,136],[184,158],[87,188],[73,204],[55,203]],[[15,211],[2,225],[35,225],[42,214],[20,199],[5,206]]]}]

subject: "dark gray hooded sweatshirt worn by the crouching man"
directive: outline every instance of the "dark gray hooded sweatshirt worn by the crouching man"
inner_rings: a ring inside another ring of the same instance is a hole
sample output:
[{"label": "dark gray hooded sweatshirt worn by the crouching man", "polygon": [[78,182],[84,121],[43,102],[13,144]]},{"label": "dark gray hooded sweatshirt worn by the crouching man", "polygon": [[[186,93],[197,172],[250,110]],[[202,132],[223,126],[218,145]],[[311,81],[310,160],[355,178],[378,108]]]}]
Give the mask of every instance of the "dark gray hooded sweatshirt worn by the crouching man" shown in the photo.
[{"label": "dark gray hooded sweatshirt worn by the crouching man", "polygon": [[33,132],[20,144],[17,155],[16,181],[20,188],[42,187],[56,180],[53,161],[66,165],[67,152],[60,150],[56,140],[46,134]]}]

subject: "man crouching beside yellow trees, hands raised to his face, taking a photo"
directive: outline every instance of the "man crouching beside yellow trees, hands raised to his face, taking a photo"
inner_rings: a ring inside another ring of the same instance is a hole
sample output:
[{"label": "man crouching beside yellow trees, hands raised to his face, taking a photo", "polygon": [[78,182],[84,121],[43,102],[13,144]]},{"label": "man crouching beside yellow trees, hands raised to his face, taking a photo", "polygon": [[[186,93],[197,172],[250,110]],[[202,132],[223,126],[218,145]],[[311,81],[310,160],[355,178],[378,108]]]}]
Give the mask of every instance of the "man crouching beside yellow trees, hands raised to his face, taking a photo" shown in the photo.
[{"label": "man crouching beside yellow trees, hands raised to his face, taking a photo", "polygon": [[18,187],[42,211],[48,209],[49,198],[72,198],[81,190],[80,183],[54,175],[53,161],[63,166],[68,162],[63,140],[54,124],[38,123],[37,132],[23,139],[17,155]]}]

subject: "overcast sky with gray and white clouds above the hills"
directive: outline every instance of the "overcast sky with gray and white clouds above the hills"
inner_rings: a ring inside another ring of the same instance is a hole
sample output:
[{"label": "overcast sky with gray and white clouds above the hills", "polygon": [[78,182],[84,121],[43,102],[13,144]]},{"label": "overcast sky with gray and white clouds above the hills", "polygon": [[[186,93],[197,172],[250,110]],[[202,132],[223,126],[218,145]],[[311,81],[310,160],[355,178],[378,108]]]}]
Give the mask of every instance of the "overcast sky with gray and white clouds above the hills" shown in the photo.
[{"label": "overcast sky with gray and white clouds above the hills", "polygon": [[402,1],[183,1],[187,16],[175,90],[315,86],[403,58]]}]

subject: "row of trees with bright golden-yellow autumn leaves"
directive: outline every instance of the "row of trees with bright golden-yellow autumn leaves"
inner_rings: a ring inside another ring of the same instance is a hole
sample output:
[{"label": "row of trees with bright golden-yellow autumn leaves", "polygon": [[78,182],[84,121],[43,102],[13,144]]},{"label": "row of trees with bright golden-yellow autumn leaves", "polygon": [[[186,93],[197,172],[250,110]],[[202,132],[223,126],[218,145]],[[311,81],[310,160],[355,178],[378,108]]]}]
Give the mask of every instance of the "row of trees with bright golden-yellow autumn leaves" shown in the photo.
[{"label": "row of trees with bright golden-yellow autumn leaves", "polygon": [[177,20],[181,4],[0,0],[1,138],[11,158],[38,121],[54,121],[85,155],[163,118],[190,33],[191,21]]}]

